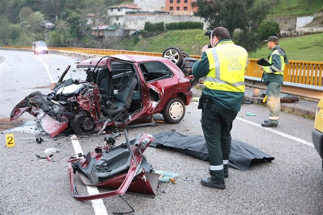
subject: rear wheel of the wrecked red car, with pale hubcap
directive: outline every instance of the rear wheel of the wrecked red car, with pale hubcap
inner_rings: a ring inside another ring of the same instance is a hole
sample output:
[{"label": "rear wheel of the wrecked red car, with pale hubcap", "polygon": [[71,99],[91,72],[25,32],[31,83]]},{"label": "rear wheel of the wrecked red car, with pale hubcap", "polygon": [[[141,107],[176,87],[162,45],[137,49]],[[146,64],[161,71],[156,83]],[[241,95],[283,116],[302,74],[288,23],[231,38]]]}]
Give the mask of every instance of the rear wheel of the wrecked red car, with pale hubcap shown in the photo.
[{"label": "rear wheel of the wrecked red car, with pale hubcap", "polygon": [[165,121],[171,124],[182,121],[185,116],[185,104],[183,100],[171,98],[164,107],[163,116]]}]

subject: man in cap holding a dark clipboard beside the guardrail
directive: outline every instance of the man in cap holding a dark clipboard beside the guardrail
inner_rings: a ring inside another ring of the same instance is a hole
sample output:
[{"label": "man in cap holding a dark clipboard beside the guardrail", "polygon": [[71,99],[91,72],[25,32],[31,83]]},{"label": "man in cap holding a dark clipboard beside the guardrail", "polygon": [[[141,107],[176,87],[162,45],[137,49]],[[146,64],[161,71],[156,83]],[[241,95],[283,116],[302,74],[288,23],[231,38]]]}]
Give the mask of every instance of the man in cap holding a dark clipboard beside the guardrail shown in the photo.
[{"label": "man in cap holding a dark clipboard beside the guardrail", "polygon": [[263,81],[267,85],[267,105],[270,113],[269,119],[265,120],[261,126],[277,127],[280,112],[280,89],[288,60],[285,51],[278,46],[278,37],[270,36],[265,42],[267,42],[268,49],[271,49],[268,55],[268,62],[271,66],[260,66],[260,69],[264,71]]}]

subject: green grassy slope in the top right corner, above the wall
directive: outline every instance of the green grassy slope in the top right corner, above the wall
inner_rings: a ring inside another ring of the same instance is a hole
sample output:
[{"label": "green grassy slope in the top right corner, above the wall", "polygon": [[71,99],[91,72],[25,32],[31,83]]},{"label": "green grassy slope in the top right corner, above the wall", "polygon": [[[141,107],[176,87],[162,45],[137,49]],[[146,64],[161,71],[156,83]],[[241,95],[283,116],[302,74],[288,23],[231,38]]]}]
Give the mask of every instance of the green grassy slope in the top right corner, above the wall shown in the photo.
[{"label": "green grassy slope in the top right corner, above the wall", "polygon": [[[263,0],[257,0],[260,4]],[[271,9],[268,17],[298,17],[309,16],[319,11],[323,0],[271,0]]]}]

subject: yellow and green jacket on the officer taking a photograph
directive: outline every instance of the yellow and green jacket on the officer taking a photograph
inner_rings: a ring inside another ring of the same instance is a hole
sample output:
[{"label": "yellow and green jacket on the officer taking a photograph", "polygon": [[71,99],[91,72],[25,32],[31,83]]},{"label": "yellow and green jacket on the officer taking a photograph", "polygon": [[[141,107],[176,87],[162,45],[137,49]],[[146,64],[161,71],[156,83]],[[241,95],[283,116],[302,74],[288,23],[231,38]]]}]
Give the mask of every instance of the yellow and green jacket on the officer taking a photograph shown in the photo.
[{"label": "yellow and green jacket on the officer taking a photograph", "polygon": [[244,72],[248,66],[248,53],[231,39],[219,41],[206,50],[194,63],[192,74],[204,77],[204,95],[220,108],[240,111],[244,95]]}]

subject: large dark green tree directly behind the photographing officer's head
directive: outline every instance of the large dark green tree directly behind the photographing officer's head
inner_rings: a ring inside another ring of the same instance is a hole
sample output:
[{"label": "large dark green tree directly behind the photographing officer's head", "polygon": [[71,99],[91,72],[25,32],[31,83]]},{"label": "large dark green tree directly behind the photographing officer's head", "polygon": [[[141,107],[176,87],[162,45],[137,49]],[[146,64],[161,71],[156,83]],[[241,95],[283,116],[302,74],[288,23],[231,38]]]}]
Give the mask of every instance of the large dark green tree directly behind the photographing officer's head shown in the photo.
[{"label": "large dark green tree directly behind the photographing officer's head", "polygon": [[[209,23],[209,29],[218,26],[228,29],[231,37],[235,30],[239,30],[235,34],[235,42],[250,41],[250,36],[256,34],[260,22],[266,18],[269,5],[266,2],[254,5],[255,0],[213,0],[205,2],[198,0],[193,3],[194,7],[198,7],[197,16],[200,16]],[[253,43],[252,41],[251,43]],[[254,44],[246,43],[244,48],[248,51],[255,50]]]}]

